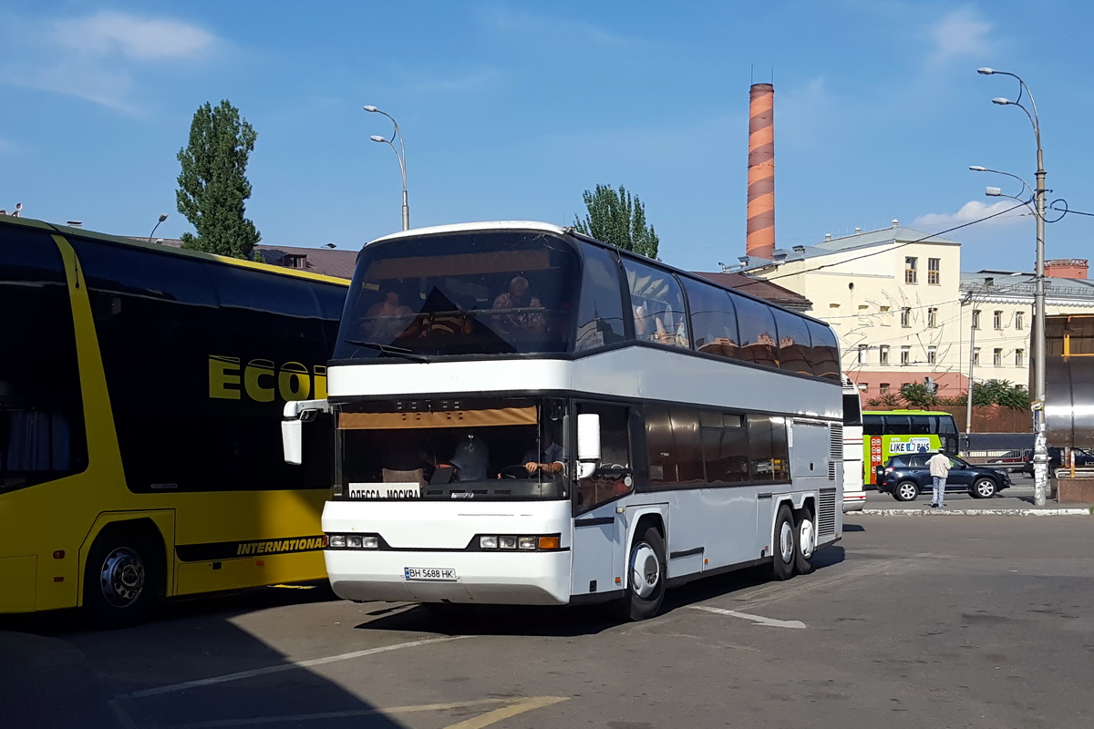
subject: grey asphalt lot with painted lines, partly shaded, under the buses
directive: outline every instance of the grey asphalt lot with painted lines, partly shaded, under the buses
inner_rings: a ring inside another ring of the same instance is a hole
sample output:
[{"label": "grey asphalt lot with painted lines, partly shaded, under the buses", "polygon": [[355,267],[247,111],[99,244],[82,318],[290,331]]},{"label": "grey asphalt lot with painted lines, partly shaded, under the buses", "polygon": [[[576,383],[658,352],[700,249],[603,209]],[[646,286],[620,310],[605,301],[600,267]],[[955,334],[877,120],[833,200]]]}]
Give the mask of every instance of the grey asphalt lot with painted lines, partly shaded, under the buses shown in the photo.
[{"label": "grey asphalt lot with painted lines, partly shaded, under the buses", "polygon": [[1094,724],[1094,519],[848,515],[814,563],[673,589],[641,623],[322,587],[175,602],[127,631],[9,621],[0,727]]}]

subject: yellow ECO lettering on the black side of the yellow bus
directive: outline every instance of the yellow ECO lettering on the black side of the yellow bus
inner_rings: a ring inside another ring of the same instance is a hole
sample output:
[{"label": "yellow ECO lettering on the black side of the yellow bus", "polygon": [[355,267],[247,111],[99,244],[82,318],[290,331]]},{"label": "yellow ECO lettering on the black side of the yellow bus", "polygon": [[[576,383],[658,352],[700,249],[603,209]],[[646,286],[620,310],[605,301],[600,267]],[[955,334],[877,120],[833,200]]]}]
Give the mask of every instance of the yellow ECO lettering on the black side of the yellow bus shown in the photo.
[{"label": "yellow ECO lettering on the black side of the yellow bus", "polygon": [[277,367],[272,360],[254,358],[246,365],[240,357],[209,355],[209,397],[219,400],[255,402],[281,400],[322,400],[327,397],[326,365],[311,371],[299,362],[286,362]]}]

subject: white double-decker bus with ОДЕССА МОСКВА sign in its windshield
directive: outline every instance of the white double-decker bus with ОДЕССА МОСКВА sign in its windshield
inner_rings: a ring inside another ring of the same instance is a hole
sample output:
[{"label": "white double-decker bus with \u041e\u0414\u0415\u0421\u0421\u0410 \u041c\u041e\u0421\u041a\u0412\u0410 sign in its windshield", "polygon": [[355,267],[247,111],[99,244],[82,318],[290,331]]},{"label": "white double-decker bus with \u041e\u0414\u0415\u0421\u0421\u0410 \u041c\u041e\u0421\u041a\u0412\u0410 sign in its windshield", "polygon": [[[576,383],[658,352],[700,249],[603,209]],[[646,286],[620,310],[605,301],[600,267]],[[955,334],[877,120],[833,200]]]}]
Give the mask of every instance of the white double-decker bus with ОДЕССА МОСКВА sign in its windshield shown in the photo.
[{"label": "white double-decker bus with \u041e\u0414\u0415\u0421\u0421\u0410 \u041c\u041e\u0421\u041a\u0412\u0410 sign in its windshield", "polygon": [[787,579],[842,528],[827,325],[545,223],[366,245],[328,397],[327,573],[351,600],[654,615],[749,565]]}]

